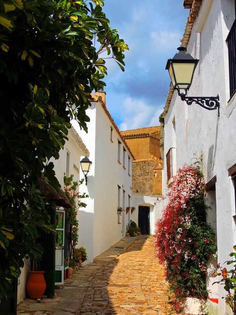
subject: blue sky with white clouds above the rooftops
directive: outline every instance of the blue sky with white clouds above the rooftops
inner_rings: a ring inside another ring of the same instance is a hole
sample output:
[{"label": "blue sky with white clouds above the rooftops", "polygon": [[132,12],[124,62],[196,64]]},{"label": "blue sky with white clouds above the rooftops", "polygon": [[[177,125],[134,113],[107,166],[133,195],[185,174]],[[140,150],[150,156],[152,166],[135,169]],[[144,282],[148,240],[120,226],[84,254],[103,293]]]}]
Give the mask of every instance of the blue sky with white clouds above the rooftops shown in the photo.
[{"label": "blue sky with white clouds above the rooftops", "polygon": [[166,62],[180,46],[189,10],[183,0],[104,0],[103,11],[129,46],[125,72],[107,60],[106,106],[120,130],[159,125],[170,85]]}]

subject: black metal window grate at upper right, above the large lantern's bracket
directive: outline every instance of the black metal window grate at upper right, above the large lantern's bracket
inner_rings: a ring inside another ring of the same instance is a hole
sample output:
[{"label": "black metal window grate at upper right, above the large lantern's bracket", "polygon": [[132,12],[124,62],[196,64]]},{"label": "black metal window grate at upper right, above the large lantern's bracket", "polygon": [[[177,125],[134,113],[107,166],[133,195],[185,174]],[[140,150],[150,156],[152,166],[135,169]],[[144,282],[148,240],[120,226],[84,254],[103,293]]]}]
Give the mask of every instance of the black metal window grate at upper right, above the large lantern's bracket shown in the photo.
[{"label": "black metal window grate at upper right, above the large lantern's bracket", "polygon": [[236,19],[233,22],[226,41],[228,42],[229,91],[231,97],[236,90]]}]

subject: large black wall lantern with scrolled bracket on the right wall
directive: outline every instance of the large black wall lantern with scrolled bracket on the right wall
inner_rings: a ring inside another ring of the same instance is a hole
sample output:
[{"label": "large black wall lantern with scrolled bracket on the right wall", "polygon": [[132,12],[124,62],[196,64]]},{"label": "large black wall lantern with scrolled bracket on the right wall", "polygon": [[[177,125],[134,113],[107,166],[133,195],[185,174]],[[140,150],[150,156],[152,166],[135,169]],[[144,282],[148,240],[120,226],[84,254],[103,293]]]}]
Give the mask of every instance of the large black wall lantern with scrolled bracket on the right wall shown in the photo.
[{"label": "large black wall lantern with scrolled bracket on the right wall", "polygon": [[[199,60],[194,59],[190,54],[188,54],[185,47],[179,47],[177,49],[179,52],[174,55],[173,59],[167,60],[166,70],[169,71],[173,87],[178,91],[178,95],[181,97],[181,100],[185,100],[188,105],[192,105],[192,103],[195,102],[209,111],[218,109],[218,116],[220,116],[219,95],[186,96],[187,91],[192,84],[194,71]],[[184,90],[184,92],[181,93],[181,89]]]}]

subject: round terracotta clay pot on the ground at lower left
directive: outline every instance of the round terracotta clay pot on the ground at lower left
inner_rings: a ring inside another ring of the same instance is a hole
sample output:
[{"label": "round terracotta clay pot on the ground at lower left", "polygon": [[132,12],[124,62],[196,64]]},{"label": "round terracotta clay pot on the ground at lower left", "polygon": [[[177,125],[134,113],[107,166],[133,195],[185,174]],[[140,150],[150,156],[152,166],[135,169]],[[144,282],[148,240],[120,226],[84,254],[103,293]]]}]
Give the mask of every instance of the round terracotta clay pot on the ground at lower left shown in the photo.
[{"label": "round terracotta clay pot on the ground at lower left", "polygon": [[26,282],[26,291],[30,299],[41,299],[45,290],[46,282],[44,271],[30,271],[30,276]]}]

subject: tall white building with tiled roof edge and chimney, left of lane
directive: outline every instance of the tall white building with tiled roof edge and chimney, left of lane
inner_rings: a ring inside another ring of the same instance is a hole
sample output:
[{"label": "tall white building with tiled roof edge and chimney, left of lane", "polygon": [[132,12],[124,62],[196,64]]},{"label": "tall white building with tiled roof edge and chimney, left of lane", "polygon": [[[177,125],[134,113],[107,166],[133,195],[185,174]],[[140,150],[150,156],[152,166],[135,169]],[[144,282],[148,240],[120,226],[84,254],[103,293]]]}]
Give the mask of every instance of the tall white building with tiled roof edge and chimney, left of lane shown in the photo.
[{"label": "tall white building with tiled roof edge and chimney, left of lane", "polygon": [[[92,94],[92,106],[88,108],[88,133],[74,128],[82,137],[90,152],[91,169],[85,182],[80,186],[86,192],[87,207],[78,213],[79,242],[84,246],[88,260],[107,250],[125,236],[127,224],[132,219],[126,211],[117,215],[117,207],[132,205],[132,161],[134,156],[123,139],[117,125],[105,104],[105,91]],[[81,178],[84,178],[81,172]]]}]

